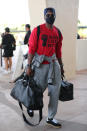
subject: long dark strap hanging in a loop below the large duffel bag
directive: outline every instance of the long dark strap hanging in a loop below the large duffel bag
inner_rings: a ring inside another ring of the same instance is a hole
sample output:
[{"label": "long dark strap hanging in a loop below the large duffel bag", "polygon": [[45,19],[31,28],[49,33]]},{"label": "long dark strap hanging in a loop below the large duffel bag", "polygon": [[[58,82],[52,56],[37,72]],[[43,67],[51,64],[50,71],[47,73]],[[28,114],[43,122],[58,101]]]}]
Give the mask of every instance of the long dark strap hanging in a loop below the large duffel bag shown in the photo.
[{"label": "long dark strap hanging in a loop below the large duffel bag", "polygon": [[25,116],[25,114],[24,114],[24,112],[23,112],[23,107],[22,107],[22,103],[21,103],[21,102],[19,102],[19,106],[20,106],[20,108],[21,108],[21,110],[22,110],[23,120],[24,120],[24,122],[25,122],[26,124],[28,124],[29,126],[37,126],[37,125],[40,124],[40,122],[41,122],[41,120],[42,120],[42,108],[39,110],[39,122],[38,122],[38,124],[32,124],[31,122],[29,122],[29,121],[27,120],[27,118],[26,118],[26,116]]}]

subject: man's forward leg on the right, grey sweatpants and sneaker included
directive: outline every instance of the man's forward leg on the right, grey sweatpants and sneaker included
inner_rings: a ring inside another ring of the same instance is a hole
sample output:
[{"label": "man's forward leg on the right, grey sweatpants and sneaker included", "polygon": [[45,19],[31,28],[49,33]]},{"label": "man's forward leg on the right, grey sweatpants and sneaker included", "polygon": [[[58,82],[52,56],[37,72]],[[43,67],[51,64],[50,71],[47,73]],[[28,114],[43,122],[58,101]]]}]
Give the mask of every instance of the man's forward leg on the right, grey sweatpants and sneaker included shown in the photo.
[{"label": "man's forward leg on the right, grey sweatpants and sneaker included", "polygon": [[50,97],[49,99],[49,105],[48,105],[48,119],[47,123],[56,127],[61,128],[61,124],[54,119],[57,109],[58,109],[58,100],[59,100],[59,92],[60,92],[60,86],[61,86],[61,72],[60,67],[58,63],[55,63],[54,66],[55,71],[55,78],[53,85],[48,85],[48,95]]}]

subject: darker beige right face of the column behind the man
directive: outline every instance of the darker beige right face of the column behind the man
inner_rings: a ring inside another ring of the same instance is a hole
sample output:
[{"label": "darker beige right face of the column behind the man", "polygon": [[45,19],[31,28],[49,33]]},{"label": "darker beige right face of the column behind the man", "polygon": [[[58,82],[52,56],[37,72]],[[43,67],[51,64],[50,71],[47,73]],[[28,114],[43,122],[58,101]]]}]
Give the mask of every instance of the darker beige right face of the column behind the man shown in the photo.
[{"label": "darker beige right face of the column behind the man", "polygon": [[55,25],[63,34],[63,62],[67,78],[75,77],[76,34],[79,0],[46,0],[47,7],[56,9]]}]

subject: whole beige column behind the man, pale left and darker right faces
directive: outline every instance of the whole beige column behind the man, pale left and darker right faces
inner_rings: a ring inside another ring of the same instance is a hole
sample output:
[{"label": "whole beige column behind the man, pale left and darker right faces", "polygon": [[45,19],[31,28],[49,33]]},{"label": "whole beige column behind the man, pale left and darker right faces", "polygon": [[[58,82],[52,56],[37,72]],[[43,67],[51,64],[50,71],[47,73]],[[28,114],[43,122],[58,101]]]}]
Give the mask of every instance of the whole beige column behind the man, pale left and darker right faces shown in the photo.
[{"label": "whole beige column behind the man, pale left and darker right faces", "polygon": [[45,7],[56,9],[55,25],[63,34],[63,62],[66,78],[75,77],[76,33],[79,0],[29,0],[32,28],[43,23]]}]

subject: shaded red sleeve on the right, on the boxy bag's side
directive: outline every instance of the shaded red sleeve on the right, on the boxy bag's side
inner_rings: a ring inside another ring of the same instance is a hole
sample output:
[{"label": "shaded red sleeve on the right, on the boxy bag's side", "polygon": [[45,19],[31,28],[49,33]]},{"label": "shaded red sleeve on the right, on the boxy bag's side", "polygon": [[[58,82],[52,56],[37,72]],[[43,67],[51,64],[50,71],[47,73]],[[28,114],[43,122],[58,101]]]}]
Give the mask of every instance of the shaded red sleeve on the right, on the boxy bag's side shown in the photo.
[{"label": "shaded red sleeve on the right, on the boxy bag's side", "polygon": [[59,41],[58,41],[57,46],[56,46],[56,57],[57,58],[62,57],[62,40],[63,40],[63,36],[61,34],[61,38],[59,38]]}]

